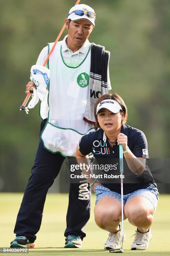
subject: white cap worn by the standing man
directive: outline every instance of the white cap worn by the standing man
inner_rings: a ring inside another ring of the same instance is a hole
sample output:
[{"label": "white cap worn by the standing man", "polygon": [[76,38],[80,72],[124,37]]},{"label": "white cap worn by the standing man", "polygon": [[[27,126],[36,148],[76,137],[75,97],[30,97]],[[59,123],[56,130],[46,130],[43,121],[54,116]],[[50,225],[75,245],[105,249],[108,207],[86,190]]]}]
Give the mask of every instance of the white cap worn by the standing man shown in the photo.
[{"label": "white cap worn by the standing man", "polygon": [[86,11],[86,12],[92,12],[95,14],[95,11],[88,5],[75,5],[73,6],[70,11],[69,11],[69,15],[68,15],[68,19],[71,19],[71,20],[80,20],[80,19],[86,19],[86,20],[89,20],[93,26],[95,26],[95,18],[90,18],[90,17],[87,17],[86,14],[82,15],[82,16],[79,16],[79,15],[76,15],[75,13],[72,13],[73,11],[75,10],[83,10],[83,11]]}]

